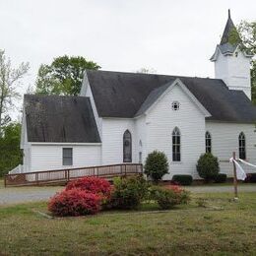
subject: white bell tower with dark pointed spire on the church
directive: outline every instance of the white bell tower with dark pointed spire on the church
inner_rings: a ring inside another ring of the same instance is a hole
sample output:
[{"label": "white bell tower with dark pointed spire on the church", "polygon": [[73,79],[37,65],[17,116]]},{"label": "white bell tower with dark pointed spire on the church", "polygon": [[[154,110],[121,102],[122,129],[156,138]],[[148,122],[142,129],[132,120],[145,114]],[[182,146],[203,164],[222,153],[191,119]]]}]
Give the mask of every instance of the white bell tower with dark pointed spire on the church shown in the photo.
[{"label": "white bell tower with dark pointed spire on the church", "polygon": [[[231,40],[233,36],[235,42]],[[228,10],[221,42],[210,60],[215,63],[216,79],[222,79],[229,90],[243,91],[251,99],[250,63],[253,56],[241,50],[240,45],[241,39]]]}]

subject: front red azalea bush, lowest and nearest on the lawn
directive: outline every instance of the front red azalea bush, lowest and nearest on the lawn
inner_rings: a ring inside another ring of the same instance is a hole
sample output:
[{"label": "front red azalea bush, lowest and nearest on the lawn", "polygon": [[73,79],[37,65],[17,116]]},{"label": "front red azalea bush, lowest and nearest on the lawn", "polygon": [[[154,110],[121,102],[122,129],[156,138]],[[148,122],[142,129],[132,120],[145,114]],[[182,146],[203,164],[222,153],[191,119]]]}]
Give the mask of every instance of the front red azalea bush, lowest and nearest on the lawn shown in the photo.
[{"label": "front red azalea bush, lowest and nearest on the lawn", "polygon": [[52,197],[48,210],[53,216],[95,215],[100,210],[100,196],[77,188],[64,190]]}]

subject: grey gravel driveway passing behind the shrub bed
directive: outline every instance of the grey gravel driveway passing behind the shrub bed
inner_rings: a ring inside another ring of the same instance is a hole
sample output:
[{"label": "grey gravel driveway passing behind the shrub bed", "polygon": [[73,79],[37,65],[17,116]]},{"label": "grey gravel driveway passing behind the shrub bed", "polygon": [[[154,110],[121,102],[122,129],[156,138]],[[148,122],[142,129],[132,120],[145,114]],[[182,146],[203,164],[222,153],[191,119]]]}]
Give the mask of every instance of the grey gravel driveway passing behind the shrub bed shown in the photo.
[{"label": "grey gravel driveway passing behind the shrub bed", "polygon": [[[46,201],[63,187],[8,187],[0,181],[0,206],[7,204]],[[194,193],[233,192],[232,185],[187,186],[187,190]],[[256,192],[256,184],[238,185],[238,192]]]}]

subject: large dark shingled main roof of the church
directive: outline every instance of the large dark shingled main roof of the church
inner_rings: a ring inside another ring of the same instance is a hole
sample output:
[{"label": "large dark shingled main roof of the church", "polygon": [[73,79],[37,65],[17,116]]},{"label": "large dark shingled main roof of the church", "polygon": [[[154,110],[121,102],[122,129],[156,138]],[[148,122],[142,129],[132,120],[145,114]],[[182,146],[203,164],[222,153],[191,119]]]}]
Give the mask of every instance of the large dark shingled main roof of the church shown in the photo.
[{"label": "large dark shingled main roof of the church", "polygon": [[212,116],[207,119],[241,123],[256,120],[256,107],[249,98],[242,91],[228,90],[220,79],[99,70],[87,70],[86,75],[100,117],[135,117],[140,108],[141,113],[143,108],[148,107],[149,101],[154,101],[166,90],[167,83],[180,79],[211,113]]}]

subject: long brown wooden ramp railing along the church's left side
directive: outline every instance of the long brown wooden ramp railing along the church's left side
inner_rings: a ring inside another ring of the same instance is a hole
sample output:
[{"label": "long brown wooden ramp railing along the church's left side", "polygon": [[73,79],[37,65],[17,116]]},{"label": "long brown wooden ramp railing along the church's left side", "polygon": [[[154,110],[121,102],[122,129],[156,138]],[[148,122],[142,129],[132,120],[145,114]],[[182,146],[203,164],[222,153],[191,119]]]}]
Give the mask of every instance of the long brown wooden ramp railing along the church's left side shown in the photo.
[{"label": "long brown wooden ramp railing along the church's left side", "polygon": [[138,175],[143,173],[141,163],[120,163],[80,168],[55,169],[5,175],[5,186],[42,185],[65,183],[71,179],[96,176],[113,178],[115,176]]}]

